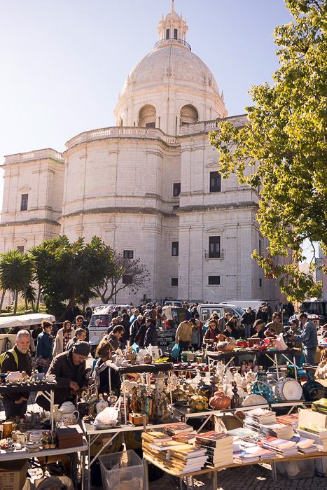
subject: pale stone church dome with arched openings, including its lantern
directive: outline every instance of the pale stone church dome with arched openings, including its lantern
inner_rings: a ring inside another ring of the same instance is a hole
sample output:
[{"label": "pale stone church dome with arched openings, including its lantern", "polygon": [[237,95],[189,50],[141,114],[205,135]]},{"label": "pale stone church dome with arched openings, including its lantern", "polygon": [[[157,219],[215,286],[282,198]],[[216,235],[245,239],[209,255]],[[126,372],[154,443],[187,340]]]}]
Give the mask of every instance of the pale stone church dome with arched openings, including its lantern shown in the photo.
[{"label": "pale stone church dome with arched openings, including its lantern", "polygon": [[186,20],[174,10],[159,22],[159,41],[127,76],[114,111],[118,126],[180,127],[228,115],[208,66],[186,42]]}]

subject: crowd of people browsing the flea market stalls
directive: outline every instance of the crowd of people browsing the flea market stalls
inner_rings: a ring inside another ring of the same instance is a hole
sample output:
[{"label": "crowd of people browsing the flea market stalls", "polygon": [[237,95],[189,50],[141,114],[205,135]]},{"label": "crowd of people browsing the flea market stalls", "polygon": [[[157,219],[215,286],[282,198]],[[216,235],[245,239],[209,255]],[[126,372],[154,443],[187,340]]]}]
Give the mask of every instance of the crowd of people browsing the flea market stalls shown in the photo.
[{"label": "crowd of people browsing the flea market stalls", "polygon": [[[107,322],[107,332],[97,346],[92,361],[92,368],[86,370],[85,360],[91,355],[89,343],[88,323],[90,322],[90,309],[85,316],[78,309],[69,311],[62,325],[43,321],[41,325],[32,325],[30,329],[17,332],[13,349],[7,351],[1,365],[1,372],[25,371],[32,373],[32,356],[39,372],[54,374],[61,391],[55,392],[55,403],[61,404],[81,393],[90,384],[97,384],[99,393],[108,393],[109,386],[117,393],[120,391],[120,379],[108,366],[107,361],[112,360],[112,353],[117,349],[125,349],[127,342],[137,344],[140,348],[155,344],[158,336],[158,326],[165,329],[176,329],[175,341],[179,344],[180,352],[188,349],[200,349],[202,346],[214,344],[220,335],[235,340],[257,337],[276,337],[286,333],[294,346],[301,346],[305,362],[314,363],[314,354],[317,347],[316,325],[307,318],[307,314],[300,312],[298,318],[290,316],[291,321],[285,325],[284,313],[289,305],[277,304],[276,311],[272,312],[270,304],[259,307],[253,311],[250,307],[244,311],[242,318],[231,316],[228,312],[219,318],[214,311],[206,323],[200,321],[197,304],[183,304],[185,314],[183,321],[179,322],[177,315],[172,319],[164,317],[160,304],[146,304],[130,309],[130,314],[123,309],[121,315],[113,317]],[[92,311],[91,311],[92,312]],[[284,325],[282,322],[284,318]],[[289,319],[289,318],[288,318]],[[104,320],[100,320],[104,321]],[[58,328],[60,327],[60,328]],[[327,325],[323,329],[327,336]],[[32,346],[34,348],[32,348]],[[254,366],[251,366],[253,369]],[[242,369],[248,369],[248,366]],[[109,382],[110,379],[110,382]],[[21,415],[26,412],[26,393],[8,393],[3,398],[6,417]],[[48,400],[39,393],[36,402],[44,409],[49,409]]]}]

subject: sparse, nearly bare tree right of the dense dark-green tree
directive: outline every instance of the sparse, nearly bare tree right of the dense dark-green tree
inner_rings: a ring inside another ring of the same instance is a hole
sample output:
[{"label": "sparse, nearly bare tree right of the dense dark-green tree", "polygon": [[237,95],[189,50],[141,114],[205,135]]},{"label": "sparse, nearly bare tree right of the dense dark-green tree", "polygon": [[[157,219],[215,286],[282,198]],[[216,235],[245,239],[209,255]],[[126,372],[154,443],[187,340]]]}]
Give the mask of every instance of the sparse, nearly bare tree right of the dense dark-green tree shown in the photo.
[{"label": "sparse, nearly bare tree right of the dense dark-green tree", "polygon": [[102,302],[108,303],[112,298],[116,302],[119,291],[127,288],[130,293],[136,293],[146,284],[150,273],[139,259],[124,258],[123,254],[113,253],[114,269],[109,270],[100,287],[95,293],[101,297]]}]

